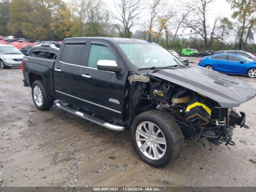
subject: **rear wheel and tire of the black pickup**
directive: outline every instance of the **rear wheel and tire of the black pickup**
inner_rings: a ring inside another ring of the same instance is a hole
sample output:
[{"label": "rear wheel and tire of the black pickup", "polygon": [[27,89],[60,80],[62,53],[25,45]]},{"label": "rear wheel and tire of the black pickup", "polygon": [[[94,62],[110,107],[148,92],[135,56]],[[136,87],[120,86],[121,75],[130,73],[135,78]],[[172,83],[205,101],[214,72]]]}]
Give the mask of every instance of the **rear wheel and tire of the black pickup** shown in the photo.
[{"label": "rear wheel and tire of the black pickup", "polygon": [[32,98],[36,108],[39,110],[48,110],[54,104],[54,100],[50,100],[48,94],[46,93],[42,80],[33,82]]}]

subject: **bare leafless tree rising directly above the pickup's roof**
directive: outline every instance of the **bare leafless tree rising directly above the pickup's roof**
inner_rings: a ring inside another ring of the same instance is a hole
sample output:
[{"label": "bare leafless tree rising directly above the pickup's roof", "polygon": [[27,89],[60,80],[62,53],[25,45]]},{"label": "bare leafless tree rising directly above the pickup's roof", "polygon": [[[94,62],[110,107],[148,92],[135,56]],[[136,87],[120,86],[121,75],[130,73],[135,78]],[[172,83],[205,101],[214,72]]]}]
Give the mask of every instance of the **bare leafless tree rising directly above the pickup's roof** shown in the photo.
[{"label": "bare leafless tree rising directly above the pickup's roof", "polygon": [[115,8],[118,14],[113,14],[114,19],[119,20],[124,26],[124,37],[132,36],[131,28],[138,24],[138,18],[141,14],[143,0],[121,0],[120,3],[115,3]]}]

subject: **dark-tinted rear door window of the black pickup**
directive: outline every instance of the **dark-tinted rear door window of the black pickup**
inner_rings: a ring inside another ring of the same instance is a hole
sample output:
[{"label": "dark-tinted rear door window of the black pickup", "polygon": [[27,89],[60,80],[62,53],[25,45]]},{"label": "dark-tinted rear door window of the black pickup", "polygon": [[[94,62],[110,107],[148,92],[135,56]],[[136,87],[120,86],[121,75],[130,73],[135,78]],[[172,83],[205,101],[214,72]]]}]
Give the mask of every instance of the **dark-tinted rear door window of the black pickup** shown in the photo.
[{"label": "dark-tinted rear door window of the black pickup", "polygon": [[86,44],[65,44],[60,61],[68,64],[84,65]]}]

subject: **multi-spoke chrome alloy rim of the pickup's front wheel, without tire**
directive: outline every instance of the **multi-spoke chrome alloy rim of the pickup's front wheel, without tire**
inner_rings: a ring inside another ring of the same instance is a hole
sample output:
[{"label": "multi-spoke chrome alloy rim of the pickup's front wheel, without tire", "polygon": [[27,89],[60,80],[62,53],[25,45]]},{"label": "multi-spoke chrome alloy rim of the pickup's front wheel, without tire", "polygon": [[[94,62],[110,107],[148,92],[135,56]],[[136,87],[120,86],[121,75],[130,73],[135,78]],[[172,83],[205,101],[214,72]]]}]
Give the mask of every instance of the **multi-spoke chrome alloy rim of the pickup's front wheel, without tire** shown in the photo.
[{"label": "multi-spoke chrome alloy rim of the pickup's front wheel, without tire", "polygon": [[163,132],[152,122],[142,122],[136,129],[136,142],[140,151],[152,160],[158,160],[166,152]]}]

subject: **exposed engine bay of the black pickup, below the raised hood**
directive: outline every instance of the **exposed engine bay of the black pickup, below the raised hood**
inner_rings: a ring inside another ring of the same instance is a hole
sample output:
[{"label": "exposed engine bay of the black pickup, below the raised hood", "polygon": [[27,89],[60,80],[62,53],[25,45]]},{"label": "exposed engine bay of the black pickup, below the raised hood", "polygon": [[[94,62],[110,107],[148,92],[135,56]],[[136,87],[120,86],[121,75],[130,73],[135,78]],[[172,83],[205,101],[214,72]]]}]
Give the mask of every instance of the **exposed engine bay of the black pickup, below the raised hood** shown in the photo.
[{"label": "exposed engine bay of the black pickup, below the raised hood", "polygon": [[238,114],[233,108],[223,108],[211,98],[183,86],[168,82],[155,76],[131,75],[128,77],[132,86],[133,98],[138,98],[137,111],[148,108],[168,113],[176,120],[183,135],[189,140],[202,143],[206,137],[209,143],[235,145],[232,141],[236,125],[245,125],[245,113]]}]

